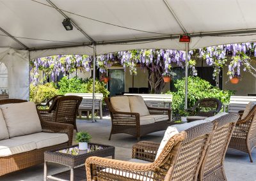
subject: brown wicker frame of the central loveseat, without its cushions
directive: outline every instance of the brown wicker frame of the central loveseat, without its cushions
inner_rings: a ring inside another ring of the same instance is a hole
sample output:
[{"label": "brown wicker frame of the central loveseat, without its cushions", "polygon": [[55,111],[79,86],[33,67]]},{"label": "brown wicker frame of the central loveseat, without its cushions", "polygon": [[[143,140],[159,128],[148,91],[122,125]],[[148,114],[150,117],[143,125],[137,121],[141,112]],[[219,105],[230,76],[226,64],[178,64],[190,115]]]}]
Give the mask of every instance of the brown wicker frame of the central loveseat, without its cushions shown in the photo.
[{"label": "brown wicker frame of the central loveseat, without its cushions", "polygon": [[150,115],[168,115],[169,119],[161,122],[155,122],[154,124],[140,125],[139,113],[116,112],[112,107],[109,98],[105,98],[104,101],[109,108],[112,122],[109,140],[111,139],[111,134],[116,133],[131,134],[140,140],[140,137],[145,134],[162,131],[168,126],[175,124],[174,122],[170,121],[172,110],[168,108],[151,108],[147,106]]}]

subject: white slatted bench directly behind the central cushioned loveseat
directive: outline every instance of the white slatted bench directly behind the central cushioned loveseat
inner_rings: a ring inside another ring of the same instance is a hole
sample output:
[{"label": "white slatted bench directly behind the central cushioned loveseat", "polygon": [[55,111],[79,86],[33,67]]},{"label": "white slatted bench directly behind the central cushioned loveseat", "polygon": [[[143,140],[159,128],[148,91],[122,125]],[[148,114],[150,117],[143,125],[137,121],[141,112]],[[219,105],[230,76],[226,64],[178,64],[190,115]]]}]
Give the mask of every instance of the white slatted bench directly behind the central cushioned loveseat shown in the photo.
[{"label": "white slatted bench directly behind the central cushioned loveseat", "polygon": [[[124,94],[124,96],[141,96],[147,106],[153,108],[170,108],[172,109],[171,94]],[[172,120],[172,114],[171,114]]]}]

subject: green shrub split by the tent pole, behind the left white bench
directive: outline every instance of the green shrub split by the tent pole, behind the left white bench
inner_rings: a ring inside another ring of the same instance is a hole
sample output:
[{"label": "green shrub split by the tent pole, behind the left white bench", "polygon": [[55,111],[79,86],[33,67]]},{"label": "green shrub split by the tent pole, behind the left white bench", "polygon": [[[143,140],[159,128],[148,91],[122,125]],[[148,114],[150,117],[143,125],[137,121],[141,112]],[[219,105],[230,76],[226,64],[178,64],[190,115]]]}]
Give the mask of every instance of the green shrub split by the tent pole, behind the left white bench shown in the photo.
[{"label": "green shrub split by the tent pole, behind the left white bench", "polygon": [[[92,84],[93,84],[93,79],[90,78],[84,83],[84,91],[85,92],[92,92]],[[105,87],[104,82],[99,82],[99,80],[95,80],[95,92],[96,93],[102,93],[104,98],[108,97],[109,91]]]}]

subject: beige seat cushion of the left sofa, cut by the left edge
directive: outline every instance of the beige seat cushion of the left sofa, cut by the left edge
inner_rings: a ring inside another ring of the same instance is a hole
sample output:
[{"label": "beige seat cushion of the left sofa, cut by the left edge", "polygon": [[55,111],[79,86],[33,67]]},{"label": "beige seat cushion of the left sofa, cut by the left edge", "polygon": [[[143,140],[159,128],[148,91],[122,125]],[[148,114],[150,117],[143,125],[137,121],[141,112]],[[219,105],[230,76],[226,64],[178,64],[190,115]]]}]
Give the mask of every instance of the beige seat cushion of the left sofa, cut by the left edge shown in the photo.
[{"label": "beige seat cushion of the left sofa, cut by the left edge", "polygon": [[12,138],[0,141],[0,157],[12,156],[36,149],[36,143],[28,140],[13,140]]}]

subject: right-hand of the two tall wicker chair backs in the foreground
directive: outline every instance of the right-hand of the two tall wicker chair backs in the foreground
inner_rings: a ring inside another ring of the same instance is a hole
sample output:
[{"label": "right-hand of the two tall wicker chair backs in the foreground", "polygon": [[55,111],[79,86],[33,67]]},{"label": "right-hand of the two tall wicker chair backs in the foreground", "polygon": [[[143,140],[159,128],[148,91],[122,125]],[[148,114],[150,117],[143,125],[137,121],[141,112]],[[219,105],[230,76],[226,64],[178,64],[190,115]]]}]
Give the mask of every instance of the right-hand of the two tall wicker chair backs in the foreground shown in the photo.
[{"label": "right-hand of the two tall wicker chair backs in the foreground", "polygon": [[213,121],[215,131],[200,168],[198,180],[227,180],[223,164],[238,117],[238,114],[230,113]]}]

